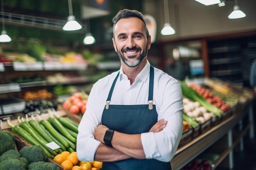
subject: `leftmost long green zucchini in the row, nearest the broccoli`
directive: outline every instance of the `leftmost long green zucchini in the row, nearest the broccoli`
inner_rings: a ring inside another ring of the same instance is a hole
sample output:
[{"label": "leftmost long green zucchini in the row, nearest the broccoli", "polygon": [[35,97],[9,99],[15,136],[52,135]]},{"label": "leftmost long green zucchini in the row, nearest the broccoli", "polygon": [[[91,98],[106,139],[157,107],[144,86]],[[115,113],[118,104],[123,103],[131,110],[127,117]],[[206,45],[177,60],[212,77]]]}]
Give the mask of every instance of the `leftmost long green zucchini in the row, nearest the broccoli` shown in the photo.
[{"label": "leftmost long green zucchini in the row, nearest the broccoli", "polygon": [[[15,125],[11,124],[9,119],[7,119],[7,123],[9,124],[9,126],[11,126],[11,130],[13,132],[17,133],[20,137],[25,139],[25,141],[27,141],[29,144],[41,146],[41,144],[38,141],[36,141],[36,139],[34,139],[34,137],[32,137],[26,130],[24,130],[20,126],[15,126]],[[50,157],[52,159],[54,158],[54,156],[47,149],[45,149],[43,146],[41,146],[41,147],[45,150],[45,154],[48,157]]]}]

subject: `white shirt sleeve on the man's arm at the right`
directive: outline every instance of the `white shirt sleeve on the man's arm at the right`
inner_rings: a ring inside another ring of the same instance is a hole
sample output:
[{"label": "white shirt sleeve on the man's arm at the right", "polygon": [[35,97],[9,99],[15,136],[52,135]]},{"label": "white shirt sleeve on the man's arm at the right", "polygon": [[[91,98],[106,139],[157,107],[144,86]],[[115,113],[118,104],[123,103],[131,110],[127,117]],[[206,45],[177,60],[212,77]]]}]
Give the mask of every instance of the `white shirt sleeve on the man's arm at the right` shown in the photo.
[{"label": "white shirt sleeve on the man's arm at the right", "polygon": [[[164,87],[162,104],[159,105],[158,120],[167,120],[167,126],[161,132],[141,134],[141,142],[146,159],[171,161],[183,131],[183,103],[180,84],[172,81]],[[159,94],[160,95],[160,94]],[[159,98],[157,97],[159,100]]]}]

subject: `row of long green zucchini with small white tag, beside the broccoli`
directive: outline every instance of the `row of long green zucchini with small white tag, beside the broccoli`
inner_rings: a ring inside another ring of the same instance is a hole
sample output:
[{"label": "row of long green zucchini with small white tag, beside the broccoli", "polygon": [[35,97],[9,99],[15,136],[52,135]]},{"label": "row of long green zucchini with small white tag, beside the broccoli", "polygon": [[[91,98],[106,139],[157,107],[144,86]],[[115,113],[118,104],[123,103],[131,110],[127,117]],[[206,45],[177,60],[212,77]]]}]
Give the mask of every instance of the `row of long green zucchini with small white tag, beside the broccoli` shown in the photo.
[{"label": "row of long green zucchini with small white tag, beside the broccoli", "polygon": [[[78,133],[78,124],[74,123],[67,117],[60,117],[52,109],[49,109],[49,118],[42,119],[37,115],[38,120],[32,115],[33,119],[29,120],[18,117],[20,126],[11,124],[11,130],[24,138],[31,145],[39,145],[45,151],[49,158],[54,158],[58,153],[65,150],[74,152],[76,150],[76,136]],[[55,142],[60,148],[52,150],[46,146],[49,142]]]}]

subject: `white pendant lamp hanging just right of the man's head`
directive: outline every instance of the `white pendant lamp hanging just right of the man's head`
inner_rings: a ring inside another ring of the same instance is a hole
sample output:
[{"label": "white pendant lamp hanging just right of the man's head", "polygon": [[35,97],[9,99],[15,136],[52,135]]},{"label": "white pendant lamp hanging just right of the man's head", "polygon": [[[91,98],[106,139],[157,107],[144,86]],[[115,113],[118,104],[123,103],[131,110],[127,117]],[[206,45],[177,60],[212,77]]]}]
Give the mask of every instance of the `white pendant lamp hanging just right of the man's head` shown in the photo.
[{"label": "white pendant lamp hanging just right of the man's head", "polygon": [[168,9],[168,0],[164,0],[164,28],[161,30],[162,35],[173,35],[175,34],[175,30],[171,27],[171,24],[169,23],[169,9]]}]

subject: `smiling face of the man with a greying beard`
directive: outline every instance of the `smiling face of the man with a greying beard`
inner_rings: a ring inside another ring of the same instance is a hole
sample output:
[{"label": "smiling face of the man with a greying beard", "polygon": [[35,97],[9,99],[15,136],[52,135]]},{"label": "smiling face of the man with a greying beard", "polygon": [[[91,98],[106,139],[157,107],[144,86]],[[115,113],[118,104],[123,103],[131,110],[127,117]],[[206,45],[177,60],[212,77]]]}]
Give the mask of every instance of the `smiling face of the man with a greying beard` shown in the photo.
[{"label": "smiling face of the man with a greying beard", "polygon": [[148,55],[151,38],[146,38],[145,25],[139,18],[123,18],[117,22],[112,38],[119,58],[130,67],[141,63]]}]

